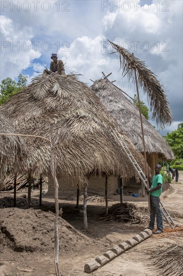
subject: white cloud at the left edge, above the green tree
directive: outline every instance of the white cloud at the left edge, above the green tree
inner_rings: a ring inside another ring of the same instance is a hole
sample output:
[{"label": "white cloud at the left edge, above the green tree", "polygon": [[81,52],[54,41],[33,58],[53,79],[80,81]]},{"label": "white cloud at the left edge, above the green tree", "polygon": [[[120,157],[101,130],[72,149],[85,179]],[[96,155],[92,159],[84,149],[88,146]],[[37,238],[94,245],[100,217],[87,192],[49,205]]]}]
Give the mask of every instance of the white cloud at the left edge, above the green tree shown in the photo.
[{"label": "white cloud at the left edge, above the green tree", "polygon": [[[1,22],[1,79],[15,78],[31,61],[40,57],[40,52],[31,49],[31,29],[20,28],[12,20],[0,16]],[[29,50],[28,50],[29,49]],[[27,51],[28,50],[28,51]]]}]

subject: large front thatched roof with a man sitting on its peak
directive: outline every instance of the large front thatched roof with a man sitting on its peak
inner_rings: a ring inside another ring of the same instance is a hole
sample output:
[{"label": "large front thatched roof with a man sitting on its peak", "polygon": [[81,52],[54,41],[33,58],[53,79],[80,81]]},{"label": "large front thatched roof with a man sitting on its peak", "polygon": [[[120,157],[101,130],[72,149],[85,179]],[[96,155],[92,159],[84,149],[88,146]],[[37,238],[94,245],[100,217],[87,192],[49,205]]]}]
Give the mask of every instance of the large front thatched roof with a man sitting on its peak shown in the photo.
[{"label": "large front thatched roof with a man sitting on its peak", "polygon": [[[74,178],[75,184],[87,183],[91,172],[101,175],[135,175],[124,151],[110,132],[118,127],[90,88],[76,76],[41,75],[0,107],[11,118],[17,131],[55,140],[56,173]],[[143,168],[144,160],[125,135],[131,153]],[[39,174],[50,171],[50,145],[40,139],[26,139],[34,150],[28,164]]]}]

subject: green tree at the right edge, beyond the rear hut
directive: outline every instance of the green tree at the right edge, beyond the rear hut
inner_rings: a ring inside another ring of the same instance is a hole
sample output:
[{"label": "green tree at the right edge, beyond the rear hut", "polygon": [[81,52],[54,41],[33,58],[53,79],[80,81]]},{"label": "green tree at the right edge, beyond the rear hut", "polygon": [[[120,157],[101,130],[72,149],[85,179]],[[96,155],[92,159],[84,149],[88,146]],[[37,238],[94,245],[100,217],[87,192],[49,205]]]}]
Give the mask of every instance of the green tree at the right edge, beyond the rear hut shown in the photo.
[{"label": "green tree at the right edge, beyond the rear hut", "polygon": [[167,133],[165,140],[172,149],[175,159],[183,159],[183,122],[178,124],[176,130]]}]

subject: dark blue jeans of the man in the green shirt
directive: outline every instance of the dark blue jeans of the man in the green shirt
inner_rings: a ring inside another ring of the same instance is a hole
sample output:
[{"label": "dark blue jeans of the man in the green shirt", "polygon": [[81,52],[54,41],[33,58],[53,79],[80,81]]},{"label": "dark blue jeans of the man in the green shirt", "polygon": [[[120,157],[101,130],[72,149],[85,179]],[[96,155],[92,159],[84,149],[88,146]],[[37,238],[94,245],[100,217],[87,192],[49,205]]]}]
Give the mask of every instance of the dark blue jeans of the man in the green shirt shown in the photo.
[{"label": "dark blue jeans of the man in the green shirt", "polygon": [[150,195],[150,222],[149,222],[149,228],[154,229],[155,216],[156,216],[157,230],[159,230],[160,232],[163,232],[162,213],[161,213],[159,202],[160,202],[159,197]]}]

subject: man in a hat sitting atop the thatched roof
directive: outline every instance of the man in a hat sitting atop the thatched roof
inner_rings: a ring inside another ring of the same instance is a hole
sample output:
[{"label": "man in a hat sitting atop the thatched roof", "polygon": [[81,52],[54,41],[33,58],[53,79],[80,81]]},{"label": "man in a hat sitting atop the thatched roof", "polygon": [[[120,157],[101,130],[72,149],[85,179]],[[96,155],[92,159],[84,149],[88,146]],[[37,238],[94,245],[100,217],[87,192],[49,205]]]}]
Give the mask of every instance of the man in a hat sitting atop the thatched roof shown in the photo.
[{"label": "man in a hat sitting atop the thatched roof", "polygon": [[65,75],[64,65],[62,60],[57,59],[57,54],[51,54],[52,61],[50,62],[49,71],[44,70],[43,74],[59,74],[61,76]]}]

